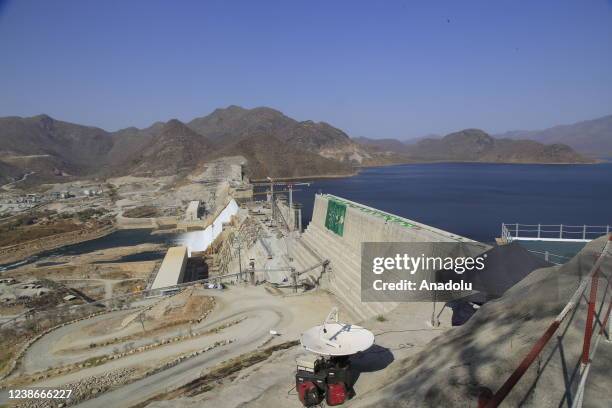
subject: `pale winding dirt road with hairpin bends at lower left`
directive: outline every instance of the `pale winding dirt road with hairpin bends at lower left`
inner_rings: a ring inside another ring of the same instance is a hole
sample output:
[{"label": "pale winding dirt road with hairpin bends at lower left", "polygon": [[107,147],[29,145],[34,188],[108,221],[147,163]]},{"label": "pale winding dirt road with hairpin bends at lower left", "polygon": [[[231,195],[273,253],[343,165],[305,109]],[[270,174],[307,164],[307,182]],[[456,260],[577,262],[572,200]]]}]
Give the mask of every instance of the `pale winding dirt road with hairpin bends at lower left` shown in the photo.
[{"label": "pale winding dirt road with hairpin bends at lower left", "polygon": [[[231,344],[219,346],[196,357],[187,359],[178,365],[160,371],[151,376],[137,380],[112,391],[99,394],[96,398],[84,401],[77,406],[82,407],[129,407],[145,401],[152,396],[176,388],[198,378],[202,371],[222,361],[236,357],[270,342],[283,342],[297,339],[299,334],[309,326],[319,323],[325,318],[334,299],[325,292],[315,292],[308,295],[280,297],[269,294],[264,287],[232,287],[224,291],[200,290],[203,295],[214,296],[216,307],[214,311],[199,324],[194,324],[191,330],[205,332],[219,328],[221,330],[169,343],[154,349],[134,353],[123,358],[110,360],[95,367],[86,367],[77,372],[45,379],[28,386],[28,388],[52,387],[78,381],[90,376],[101,375],[111,370],[127,367],[138,367],[143,363],[147,366],[161,364],[172,357],[201,350],[218,341],[231,340]],[[129,330],[120,329],[113,332],[89,335],[92,325],[102,327],[106,322],[116,321],[128,316],[134,311],[113,312],[95,318],[64,326],[35,342],[26,352],[21,368],[22,373],[32,373],[51,367],[78,363],[88,358],[104,356],[122,350],[125,343],[115,343],[106,347],[88,349],[86,345],[105,339],[121,338],[129,335]],[[270,335],[274,329],[281,336]],[[155,339],[170,338],[187,334],[189,328],[176,327],[163,334],[156,334]],[[152,343],[151,337],[130,340],[131,348]],[[0,404],[6,403],[7,390],[0,392]]]}]

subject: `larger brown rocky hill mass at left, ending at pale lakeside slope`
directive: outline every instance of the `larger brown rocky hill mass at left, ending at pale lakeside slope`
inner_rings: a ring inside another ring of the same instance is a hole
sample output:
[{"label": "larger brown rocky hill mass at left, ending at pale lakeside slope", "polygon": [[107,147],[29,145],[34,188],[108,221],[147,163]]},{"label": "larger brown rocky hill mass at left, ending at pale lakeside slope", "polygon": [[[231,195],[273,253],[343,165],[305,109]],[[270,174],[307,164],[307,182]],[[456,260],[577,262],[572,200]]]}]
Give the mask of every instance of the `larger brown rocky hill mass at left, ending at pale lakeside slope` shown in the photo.
[{"label": "larger brown rocky hill mass at left, ending at pale lakeside slope", "polygon": [[251,177],[349,175],[366,149],[326,123],[270,108],[217,109],[189,124],[173,119],[117,132],[47,115],[0,118],[0,180],[187,173],[209,158],[242,155]]}]

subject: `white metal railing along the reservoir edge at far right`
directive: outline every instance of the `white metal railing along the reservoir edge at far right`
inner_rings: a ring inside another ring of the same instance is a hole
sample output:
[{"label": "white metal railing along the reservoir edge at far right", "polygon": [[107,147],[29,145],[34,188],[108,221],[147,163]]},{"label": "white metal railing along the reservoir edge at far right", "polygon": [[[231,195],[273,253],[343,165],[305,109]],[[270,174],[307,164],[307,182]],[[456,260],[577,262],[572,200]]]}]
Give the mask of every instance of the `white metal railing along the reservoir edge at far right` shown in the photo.
[{"label": "white metal railing along the reservoir edge at far right", "polygon": [[506,242],[568,241],[588,242],[612,231],[610,225],[502,224],[501,237]]}]

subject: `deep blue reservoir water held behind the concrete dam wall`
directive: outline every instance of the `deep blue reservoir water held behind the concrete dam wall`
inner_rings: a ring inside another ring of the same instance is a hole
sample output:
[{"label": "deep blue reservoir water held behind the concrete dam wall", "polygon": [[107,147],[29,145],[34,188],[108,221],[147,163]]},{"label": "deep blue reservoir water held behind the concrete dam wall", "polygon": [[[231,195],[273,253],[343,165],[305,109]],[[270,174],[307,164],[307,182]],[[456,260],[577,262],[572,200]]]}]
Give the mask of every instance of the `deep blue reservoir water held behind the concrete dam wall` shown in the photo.
[{"label": "deep blue reservoir water held behind the concrete dam wall", "polygon": [[484,242],[503,222],[612,225],[612,163],[406,164],[299,188],[304,225],[319,191]]}]

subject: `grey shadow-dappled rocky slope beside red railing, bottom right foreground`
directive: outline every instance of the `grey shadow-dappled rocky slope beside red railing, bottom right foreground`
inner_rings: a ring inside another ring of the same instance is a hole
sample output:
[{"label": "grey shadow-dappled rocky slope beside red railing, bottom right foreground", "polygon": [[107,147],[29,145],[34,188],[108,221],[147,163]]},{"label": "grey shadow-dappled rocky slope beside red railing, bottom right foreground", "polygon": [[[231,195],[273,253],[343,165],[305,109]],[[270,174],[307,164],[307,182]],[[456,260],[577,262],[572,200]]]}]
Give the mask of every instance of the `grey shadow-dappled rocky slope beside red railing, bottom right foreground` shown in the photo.
[{"label": "grey shadow-dappled rocky slope beside red railing, bottom right foreground", "polygon": [[[378,380],[380,388],[358,396],[352,406],[477,406],[481,387],[497,391],[521,364],[589,273],[606,239],[604,236],[589,242],[560,267],[531,272],[500,299],[480,307],[465,325],[438,336],[416,355],[397,361]],[[605,277],[612,273],[609,257],[602,263],[600,273],[599,287],[605,287]],[[580,363],[586,309],[583,296],[576,313],[568,314],[501,406],[569,405],[566,387],[570,383],[575,390],[578,382],[579,376],[571,373],[577,372]],[[611,359],[610,347],[598,350],[587,383],[590,385],[585,393],[585,407],[610,405],[610,390],[605,384]],[[564,375],[566,372],[570,374]]]}]

